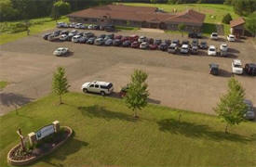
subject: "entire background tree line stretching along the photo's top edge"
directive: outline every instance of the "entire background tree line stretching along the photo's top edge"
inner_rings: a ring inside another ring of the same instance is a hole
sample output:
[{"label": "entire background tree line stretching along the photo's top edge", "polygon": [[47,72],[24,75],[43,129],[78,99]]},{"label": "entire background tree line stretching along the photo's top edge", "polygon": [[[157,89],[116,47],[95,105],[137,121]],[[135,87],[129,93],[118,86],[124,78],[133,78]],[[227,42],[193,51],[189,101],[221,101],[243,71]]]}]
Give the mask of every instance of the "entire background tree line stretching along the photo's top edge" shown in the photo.
[{"label": "entire background tree line stretching along the photo's top edge", "polygon": [[248,16],[256,10],[256,0],[1,0],[0,19],[1,21],[34,19],[56,15],[53,11],[54,4],[59,6],[67,3],[68,10],[61,10],[60,15],[68,12],[80,10],[89,6],[106,5],[113,2],[133,2],[133,3],[158,3],[158,4],[226,4],[234,6],[236,14]]}]

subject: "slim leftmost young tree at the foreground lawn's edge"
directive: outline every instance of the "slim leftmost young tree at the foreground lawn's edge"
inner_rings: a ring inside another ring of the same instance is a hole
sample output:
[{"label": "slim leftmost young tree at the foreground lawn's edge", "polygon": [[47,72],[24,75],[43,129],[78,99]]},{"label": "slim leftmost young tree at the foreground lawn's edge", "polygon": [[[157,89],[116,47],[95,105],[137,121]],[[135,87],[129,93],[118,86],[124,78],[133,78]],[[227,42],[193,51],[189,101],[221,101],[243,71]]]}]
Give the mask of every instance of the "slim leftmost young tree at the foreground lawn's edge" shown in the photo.
[{"label": "slim leftmost young tree at the foreground lawn's edge", "polygon": [[61,96],[68,92],[69,87],[70,85],[68,84],[68,80],[65,76],[65,69],[59,67],[53,74],[52,92],[59,96],[60,104],[62,104]]}]

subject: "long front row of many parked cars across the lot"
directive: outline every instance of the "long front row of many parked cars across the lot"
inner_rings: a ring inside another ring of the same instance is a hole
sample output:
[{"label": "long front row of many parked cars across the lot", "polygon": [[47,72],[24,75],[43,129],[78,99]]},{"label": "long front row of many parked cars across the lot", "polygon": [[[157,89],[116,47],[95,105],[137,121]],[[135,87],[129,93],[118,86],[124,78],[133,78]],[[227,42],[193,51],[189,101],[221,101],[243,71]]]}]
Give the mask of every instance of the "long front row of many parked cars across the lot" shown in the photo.
[{"label": "long front row of many parked cars across the lot", "polygon": [[162,40],[153,39],[146,36],[129,35],[123,36],[119,34],[101,34],[96,36],[93,32],[78,32],[77,30],[72,31],[61,31],[57,30],[52,33],[46,33],[43,38],[48,41],[72,41],[74,43],[88,44],[88,45],[114,45],[131,48],[141,48],[150,50],[162,50],[172,54],[198,54],[199,49],[209,49],[209,56],[227,56],[228,46],[226,44],[220,45],[218,51],[214,45],[208,45],[207,42],[198,39],[192,41],[183,40],[180,42],[178,39],[173,40]]}]

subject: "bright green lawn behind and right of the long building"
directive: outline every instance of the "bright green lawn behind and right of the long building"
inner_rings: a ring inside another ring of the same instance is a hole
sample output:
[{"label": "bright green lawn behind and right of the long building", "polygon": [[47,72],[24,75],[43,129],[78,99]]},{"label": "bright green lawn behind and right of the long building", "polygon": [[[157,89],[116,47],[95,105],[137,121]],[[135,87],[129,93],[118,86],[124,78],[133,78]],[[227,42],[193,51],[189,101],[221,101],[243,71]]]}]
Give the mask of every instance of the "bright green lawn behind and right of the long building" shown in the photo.
[{"label": "bright green lawn behind and right of the long building", "polygon": [[[233,6],[226,5],[215,5],[215,4],[179,4],[179,5],[168,5],[168,4],[142,4],[142,3],[123,3],[127,6],[156,6],[163,8],[165,11],[173,12],[174,9],[177,11],[183,11],[186,9],[194,9],[201,13],[206,14],[206,19],[203,27],[203,32],[206,34],[216,31],[215,24],[222,23],[222,17],[230,13],[233,19],[238,18],[239,16],[233,10]],[[229,25],[224,24],[225,34],[229,33]]]}]

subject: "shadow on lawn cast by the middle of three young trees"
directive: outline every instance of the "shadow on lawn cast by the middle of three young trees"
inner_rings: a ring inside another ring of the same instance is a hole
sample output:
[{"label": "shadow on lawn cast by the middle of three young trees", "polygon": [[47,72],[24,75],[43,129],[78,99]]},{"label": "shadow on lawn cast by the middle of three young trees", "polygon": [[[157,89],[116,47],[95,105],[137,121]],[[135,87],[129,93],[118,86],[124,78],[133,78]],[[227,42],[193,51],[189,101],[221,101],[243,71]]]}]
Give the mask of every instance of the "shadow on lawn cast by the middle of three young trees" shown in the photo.
[{"label": "shadow on lawn cast by the middle of three young trees", "polygon": [[122,112],[114,112],[112,110],[107,110],[99,105],[93,105],[89,107],[78,107],[78,109],[81,110],[83,115],[86,115],[90,118],[97,117],[97,118],[104,119],[106,121],[110,121],[110,120],[122,120],[122,121],[128,121],[128,122],[136,121],[131,115],[128,115]]}]

